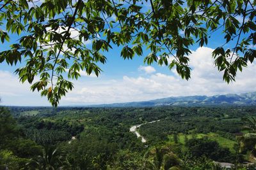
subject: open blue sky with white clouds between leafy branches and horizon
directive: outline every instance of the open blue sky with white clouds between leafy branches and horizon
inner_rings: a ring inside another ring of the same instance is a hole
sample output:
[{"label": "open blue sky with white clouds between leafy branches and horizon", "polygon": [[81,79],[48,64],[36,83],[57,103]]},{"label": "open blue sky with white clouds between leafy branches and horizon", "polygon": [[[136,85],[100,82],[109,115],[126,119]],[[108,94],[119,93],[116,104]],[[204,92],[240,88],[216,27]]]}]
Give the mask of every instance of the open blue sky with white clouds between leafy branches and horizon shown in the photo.
[{"label": "open blue sky with white clouds between leafy branches and horizon", "polygon": [[[223,44],[221,32],[211,36],[207,46],[191,47],[189,66],[191,79],[182,80],[175,69],[166,66],[143,64],[143,56],[124,60],[120,57],[121,48],[114,46],[113,50],[104,53],[107,63],[101,66],[99,77],[88,76],[81,72],[81,78],[72,80],[74,90],[62,97],[60,106],[81,106],[90,104],[124,103],[131,101],[147,101],[170,96],[195,96],[216,94],[241,94],[256,91],[256,64],[248,64],[243,73],[237,73],[236,81],[227,84],[223,81],[223,73],[214,67],[212,51]],[[11,39],[17,39],[12,36]],[[88,41],[88,45],[92,42]],[[230,44],[232,46],[232,44]],[[228,46],[225,46],[228,48]],[[1,45],[0,51],[8,45]],[[22,63],[24,64],[24,62]],[[0,105],[4,106],[51,106],[46,97],[32,92],[28,83],[21,83],[13,72],[22,64],[8,66],[0,64]]]}]

